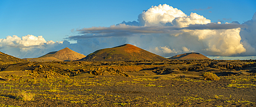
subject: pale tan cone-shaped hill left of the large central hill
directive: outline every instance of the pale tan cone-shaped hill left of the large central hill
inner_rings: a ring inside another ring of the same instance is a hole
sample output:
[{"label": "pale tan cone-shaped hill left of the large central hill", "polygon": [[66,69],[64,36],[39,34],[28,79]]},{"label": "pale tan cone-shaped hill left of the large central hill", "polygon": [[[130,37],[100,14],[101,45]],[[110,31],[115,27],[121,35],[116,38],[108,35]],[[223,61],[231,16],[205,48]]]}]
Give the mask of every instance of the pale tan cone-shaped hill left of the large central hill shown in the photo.
[{"label": "pale tan cone-shaped hill left of the large central hill", "polygon": [[75,51],[72,51],[69,48],[64,48],[59,51],[49,52],[46,55],[40,56],[38,58],[26,58],[30,61],[73,61],[79,60],[86,57],[85,55],[79,54]]}]

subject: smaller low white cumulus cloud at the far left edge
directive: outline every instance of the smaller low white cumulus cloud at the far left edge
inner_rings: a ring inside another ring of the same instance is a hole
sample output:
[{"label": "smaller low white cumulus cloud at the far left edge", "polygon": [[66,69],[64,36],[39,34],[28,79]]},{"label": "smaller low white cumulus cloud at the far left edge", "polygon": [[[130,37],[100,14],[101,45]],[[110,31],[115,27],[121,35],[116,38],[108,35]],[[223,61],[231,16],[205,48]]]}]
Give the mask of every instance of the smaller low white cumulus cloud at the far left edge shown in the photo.
[{"label": "smaller low white cumulus cloud at the far left edge", "polygon": [[46,41],[42,36],[26,35],[20,38],[13,35],[0,39],[0,51],[19,58],[39,57],[61,48],[63,41]]}]

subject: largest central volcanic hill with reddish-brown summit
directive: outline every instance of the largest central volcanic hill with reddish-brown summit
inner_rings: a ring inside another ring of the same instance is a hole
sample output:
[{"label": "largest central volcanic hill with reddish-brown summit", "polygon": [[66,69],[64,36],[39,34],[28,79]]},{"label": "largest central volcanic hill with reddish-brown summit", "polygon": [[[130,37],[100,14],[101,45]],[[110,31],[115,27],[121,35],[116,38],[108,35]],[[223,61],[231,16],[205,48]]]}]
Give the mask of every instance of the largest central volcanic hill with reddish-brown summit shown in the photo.
[{"label": "largest central volcanic hill with reddish-brown summit", "polygon": [[97,50],[78,61],[168,60],[130,44]]}]

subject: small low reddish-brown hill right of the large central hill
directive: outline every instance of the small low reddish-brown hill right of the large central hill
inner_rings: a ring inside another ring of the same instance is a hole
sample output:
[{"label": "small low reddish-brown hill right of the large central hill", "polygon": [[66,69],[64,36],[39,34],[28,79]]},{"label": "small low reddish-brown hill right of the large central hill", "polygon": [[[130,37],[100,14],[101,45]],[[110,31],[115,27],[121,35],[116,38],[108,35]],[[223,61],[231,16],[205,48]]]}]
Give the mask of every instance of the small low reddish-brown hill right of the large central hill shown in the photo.
[{"label": "small low reddish-brown hill right of the large central hill", "polygon": [[191,53],[184,53],[175,55],[173,57],[169,57],[168,59],[172,60],[200,60],[200,59],[210,59],[200,53],[191,52]]}]

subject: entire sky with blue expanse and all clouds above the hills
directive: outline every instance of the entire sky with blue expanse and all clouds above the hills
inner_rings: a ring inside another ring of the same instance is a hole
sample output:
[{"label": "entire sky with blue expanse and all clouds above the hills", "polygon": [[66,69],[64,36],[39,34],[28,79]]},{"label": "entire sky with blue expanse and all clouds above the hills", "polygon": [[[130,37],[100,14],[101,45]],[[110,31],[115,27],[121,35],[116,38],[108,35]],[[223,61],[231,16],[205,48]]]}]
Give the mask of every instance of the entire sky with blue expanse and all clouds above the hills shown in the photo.
[{"label": "entire sky with blue expanse and all clouds above the hills", "polygon": [[255,59],[256,1],[2,1],[0,51],[18,58],[132,44],[163,57]]}]

